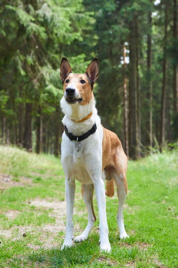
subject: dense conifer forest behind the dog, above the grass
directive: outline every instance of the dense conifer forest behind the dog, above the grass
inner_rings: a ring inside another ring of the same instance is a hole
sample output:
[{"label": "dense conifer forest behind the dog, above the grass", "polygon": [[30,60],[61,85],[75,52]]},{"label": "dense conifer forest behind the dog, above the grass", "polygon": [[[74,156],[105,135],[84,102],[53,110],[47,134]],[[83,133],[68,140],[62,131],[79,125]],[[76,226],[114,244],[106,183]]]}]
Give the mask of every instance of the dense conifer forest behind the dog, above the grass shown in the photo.
[{"label": "dense conifer forest behind the dog, above the grass", "polygon": [[127,155],[178,140],[177,0],[0,1],[0,143],[60,153],[60,59],[94,87],[104,127]]}]

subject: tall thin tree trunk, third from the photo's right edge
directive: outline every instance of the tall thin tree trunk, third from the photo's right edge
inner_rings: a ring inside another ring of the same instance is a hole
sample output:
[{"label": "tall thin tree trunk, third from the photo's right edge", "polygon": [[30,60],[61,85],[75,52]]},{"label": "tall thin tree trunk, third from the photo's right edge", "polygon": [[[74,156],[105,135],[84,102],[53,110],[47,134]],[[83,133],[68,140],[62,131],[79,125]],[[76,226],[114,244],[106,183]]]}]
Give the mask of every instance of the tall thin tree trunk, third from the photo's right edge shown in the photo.
[{"label": "tall thin tree trunk, third from the photo's right edge", "polygon": [[145,145],[150,151],[152,148],[153,131],[152,131],[152,81],[151,81],[151,28],[152,18],[151,11],[148,14],[148,34],[147,34],[147,73],[146,73],[146,133]]}]

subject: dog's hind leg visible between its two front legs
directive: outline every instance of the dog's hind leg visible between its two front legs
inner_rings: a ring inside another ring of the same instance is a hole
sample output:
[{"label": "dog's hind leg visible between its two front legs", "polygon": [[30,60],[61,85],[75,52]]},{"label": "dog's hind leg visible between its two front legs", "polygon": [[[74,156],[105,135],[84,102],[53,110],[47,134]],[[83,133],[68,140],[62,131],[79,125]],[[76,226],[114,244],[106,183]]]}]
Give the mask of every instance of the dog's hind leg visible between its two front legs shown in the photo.
[{"label": "dog's hind leg visible between its two front legs", "polygon": [[94,224],[94,221],[96,220],[96,217],[94,215],[94,210],[93,210],[93,203],[92,203],[93,190],[94,190],[93,184],[88,184],[88,185],[83,184],[82,186],[83,199],[85,201],[85,204],[88,210],[88,224],[87,224],[86,229],[83,231],[83,233],[75,238],[74,240],[75,242],[82,242],[88,238],[91,228]]}]

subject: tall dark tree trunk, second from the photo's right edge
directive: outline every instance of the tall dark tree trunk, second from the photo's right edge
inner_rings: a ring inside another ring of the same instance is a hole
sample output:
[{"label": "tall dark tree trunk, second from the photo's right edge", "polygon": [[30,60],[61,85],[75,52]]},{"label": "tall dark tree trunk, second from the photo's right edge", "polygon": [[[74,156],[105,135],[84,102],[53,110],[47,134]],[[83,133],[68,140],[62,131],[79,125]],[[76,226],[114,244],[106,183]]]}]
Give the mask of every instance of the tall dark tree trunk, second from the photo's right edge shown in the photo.
[{"label": "tall dark tree trunk, second from the photo's right edge", "polygon": [[167,27],[168,27],[168,6],[165,3],[165,30],[164,30],[164,47],[163,47],[163,85],[162,85],[162,102],[161,102],[161,140],[160,151],[162,152],[165,145],[165,108],[166,108],[166,44],[167,44]]}]

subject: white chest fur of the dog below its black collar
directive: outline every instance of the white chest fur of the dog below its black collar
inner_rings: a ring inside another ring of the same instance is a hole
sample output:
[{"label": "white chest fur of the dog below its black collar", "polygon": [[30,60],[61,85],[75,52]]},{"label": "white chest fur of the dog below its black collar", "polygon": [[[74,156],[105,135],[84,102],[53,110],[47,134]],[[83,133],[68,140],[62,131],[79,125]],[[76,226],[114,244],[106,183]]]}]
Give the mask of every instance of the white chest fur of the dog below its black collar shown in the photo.
[{"label": "white chest fur of the dog below its black collar", "polygon": [[62,135],[61,162],[64,172],[70,178],[85,184],[91,183],[88,171],[93,165],[101,172],[103,130],[99,117],[96,121],[99,123],[96,132],[78,143],[71,141],[65,132]]}]

